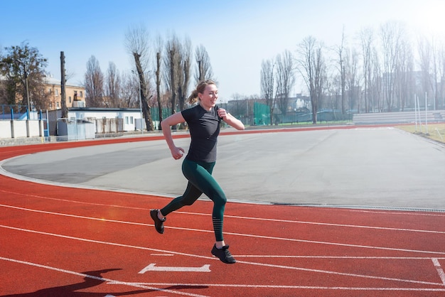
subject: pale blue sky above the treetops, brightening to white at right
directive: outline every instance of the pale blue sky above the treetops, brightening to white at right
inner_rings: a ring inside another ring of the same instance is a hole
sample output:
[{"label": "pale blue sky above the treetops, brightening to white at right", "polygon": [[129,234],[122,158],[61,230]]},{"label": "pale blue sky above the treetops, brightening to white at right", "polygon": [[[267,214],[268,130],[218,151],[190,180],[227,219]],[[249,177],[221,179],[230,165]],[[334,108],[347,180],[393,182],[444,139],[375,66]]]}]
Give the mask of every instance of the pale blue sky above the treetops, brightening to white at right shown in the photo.
[{"label": "pale blue sky above the treetops, brightening to white at right", "polygon": [[[328,46],[341,42],[343,27],[349,42],[361,28],[379,28],[402,21],[425,34],[443,36],[445,1],[441,0],[0,0],[0,46],[27,41],[48,58],[48,68],[60,78],[60,51],[72,84],[82,84],[88,59],[94,55],[102,72],[109,62],[130,72],[132,60],[124,34],[144,24],[151,36],[174,32],[193,47],[204,45],[210,55],[220,98],[259,95],[264,59],[296,50],[306,36]],[[297,82],[294,92],[304,91]]]}]

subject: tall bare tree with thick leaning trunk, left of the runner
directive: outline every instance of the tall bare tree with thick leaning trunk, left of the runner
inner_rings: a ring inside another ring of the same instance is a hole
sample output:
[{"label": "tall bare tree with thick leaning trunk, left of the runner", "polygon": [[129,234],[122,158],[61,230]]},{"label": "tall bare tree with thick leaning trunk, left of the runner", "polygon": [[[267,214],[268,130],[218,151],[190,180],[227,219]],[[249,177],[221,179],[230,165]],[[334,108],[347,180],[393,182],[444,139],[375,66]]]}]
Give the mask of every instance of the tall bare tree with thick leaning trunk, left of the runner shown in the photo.
[{"label": "tall bare tree with thick leaning trunk, left of the runner", "polygon": [[154,125],[151,119],[151,104],[149,102],[149,87],[146,81],[146,68],[149,65],[150,38],[149,32],[144,26],[130,28],[125,34],[125,47],[134,59],[134,65],[139,77],[142,112],[144,113],[147,131],[153,131]]}]

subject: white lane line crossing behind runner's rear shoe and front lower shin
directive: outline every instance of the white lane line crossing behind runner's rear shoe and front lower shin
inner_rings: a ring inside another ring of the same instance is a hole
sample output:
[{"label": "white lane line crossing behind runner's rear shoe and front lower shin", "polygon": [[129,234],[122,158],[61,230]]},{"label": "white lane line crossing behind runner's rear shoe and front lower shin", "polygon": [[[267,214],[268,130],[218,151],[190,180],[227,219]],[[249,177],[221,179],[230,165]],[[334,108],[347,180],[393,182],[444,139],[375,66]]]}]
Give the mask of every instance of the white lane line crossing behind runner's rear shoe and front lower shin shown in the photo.
[{"label": "white lane line crossing behind runner's rear shoe and front lower shin", "polygon": [[[49,215],[60,215],[60,216],[67,216],[67,217],[77,217],[81,219],[86,220],[99,220],[102,222],[117,222],[121,224],[128,224],[128,225],[140,225],[140,226],[153,226],[152,224],[144,224],[144,223],[138,223],[138,222],[127,222],[127,221],[119,221],[119,220],[107,220],[100,217],[83,217],[79,215],[67,215],[59,212],[47,212],[43,210],[31,210],[28,208],[23,207],[16,207],[11,205],[1,205],[0,207],[10,207],[18,210],[26,210],[30,212],[41,212]],[[184,231],[193,231],[193,232],[206,232],[206,233],[213,233],[211,230],[204,230],[204,229],[193,229],[193,228],[183,228],[183,227],[172,227],[168,226],[166,227],[168,229],[178,229],[178,230],[184,230]],[[240,236],[240,237],[254,237],[254,238],[261,238],[261,239],[273,239],[273,240],[283,240],[288,242],[304,242],[309,244],[326,244],[326,245],[333,245],[333,246],[340,246],[340,247],[358,247],[362,249],[382,249],[387,251],[397,251],[397,252],[414,252],[414,253],[427,253],[427,254],[445,254],[445,252],[434,252],[434,251],[424,251],[424,250],[417,250],[417,249],[397,249],[393,247],[375,247],[375,246],[368,246],[368,245],[361,245],[361,244],[344,244],[344,243],[338,243],[338,242],[320,242],[316,240],[306,240],[306,239],[294,239],[294,238],[284,238],[284,237],[272,237],[272,236],[264,236],[264,235],[255,235],[255,234],[241,234],[241,233],[234,233],[234,232],[225,232],[227,235],[234,235],[234,236]]]}]

